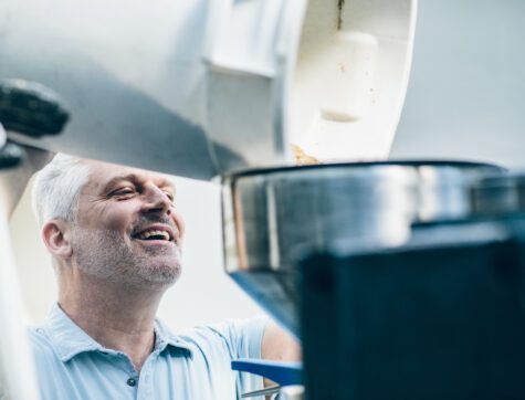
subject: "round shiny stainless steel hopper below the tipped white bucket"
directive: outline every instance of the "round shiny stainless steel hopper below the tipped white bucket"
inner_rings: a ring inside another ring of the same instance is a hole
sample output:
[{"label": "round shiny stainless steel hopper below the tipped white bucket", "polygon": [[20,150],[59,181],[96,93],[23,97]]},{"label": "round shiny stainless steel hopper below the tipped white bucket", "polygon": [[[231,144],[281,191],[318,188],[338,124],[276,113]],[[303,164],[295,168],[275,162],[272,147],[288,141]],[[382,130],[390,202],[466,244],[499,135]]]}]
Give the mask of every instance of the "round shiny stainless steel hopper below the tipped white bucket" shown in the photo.
[{"label": "round shiny stainless steel hopper below the tipped white bucket", "polygon": [[337,244],[396,246],[417,221],[462,218],[470,186],[502,168],[459,161],[385,161],[248,170],[223,178],[225,269],[300,336],[296,262]]}]

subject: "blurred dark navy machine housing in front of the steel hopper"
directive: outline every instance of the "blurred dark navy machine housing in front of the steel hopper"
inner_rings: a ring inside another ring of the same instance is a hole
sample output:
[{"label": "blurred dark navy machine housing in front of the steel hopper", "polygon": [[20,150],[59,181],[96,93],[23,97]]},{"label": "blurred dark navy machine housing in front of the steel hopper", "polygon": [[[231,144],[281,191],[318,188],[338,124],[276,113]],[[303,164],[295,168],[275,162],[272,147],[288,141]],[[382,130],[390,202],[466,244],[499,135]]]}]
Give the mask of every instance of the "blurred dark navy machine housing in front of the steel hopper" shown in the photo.
[{"label": "blurred dark navy machine housing in front of the steel hopper", "polygon": [[465,218],[413,224],[397,249],[303,259],[309,398],[523,398],[523,176],[471,189]]}]

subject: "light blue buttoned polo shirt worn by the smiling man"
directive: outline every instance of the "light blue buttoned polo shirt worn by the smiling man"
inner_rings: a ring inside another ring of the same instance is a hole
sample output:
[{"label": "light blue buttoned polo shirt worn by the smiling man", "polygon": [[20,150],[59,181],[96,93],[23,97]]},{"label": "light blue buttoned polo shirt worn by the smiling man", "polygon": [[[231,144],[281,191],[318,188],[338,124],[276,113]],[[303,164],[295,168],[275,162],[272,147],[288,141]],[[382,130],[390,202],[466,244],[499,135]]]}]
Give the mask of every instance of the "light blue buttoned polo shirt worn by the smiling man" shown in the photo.
[{"label": "light blue buttoned polo shirt worn by the smiling man", "polygon": [[232,371],[231,360],[261,357],[266,322],[256,317],[174,335],[157,319],[154,351],[138,375],[124,352],[101,346],[55,305],[30,330],[42,400],[240,399],[263,381]]}]

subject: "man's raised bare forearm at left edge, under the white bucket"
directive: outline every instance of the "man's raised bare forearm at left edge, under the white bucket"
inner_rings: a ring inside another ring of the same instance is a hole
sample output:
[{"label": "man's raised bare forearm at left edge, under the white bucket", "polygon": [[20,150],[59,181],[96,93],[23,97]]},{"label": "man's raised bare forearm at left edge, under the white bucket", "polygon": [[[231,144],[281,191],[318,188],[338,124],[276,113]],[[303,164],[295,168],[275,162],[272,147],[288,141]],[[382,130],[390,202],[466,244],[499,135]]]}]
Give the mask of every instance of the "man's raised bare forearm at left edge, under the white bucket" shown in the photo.
[{"label": "man's raised bare forearm at left edge, under the white bucket", "polygon": [[22,162],[9,169],[0,169],[0,212],[8,217],[14,211],[29,180],[53,158],[53,154],[33,147],[25,150]]}]

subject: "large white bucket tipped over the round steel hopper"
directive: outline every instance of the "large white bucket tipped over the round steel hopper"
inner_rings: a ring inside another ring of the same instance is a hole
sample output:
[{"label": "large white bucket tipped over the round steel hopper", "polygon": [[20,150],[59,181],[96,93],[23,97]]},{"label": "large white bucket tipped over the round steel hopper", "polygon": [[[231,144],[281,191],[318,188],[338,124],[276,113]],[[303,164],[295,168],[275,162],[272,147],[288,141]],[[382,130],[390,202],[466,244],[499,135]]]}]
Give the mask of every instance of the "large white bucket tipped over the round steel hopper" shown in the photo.
[{"label": "large white bucket tipped over the round steel hopper", "polygon": [[3,0],[0,77],[65,99],[63,135],[29,140],[53,150],[198,179],[292,164],[292,145],[378,159],[414,19],[416,0]]}]

